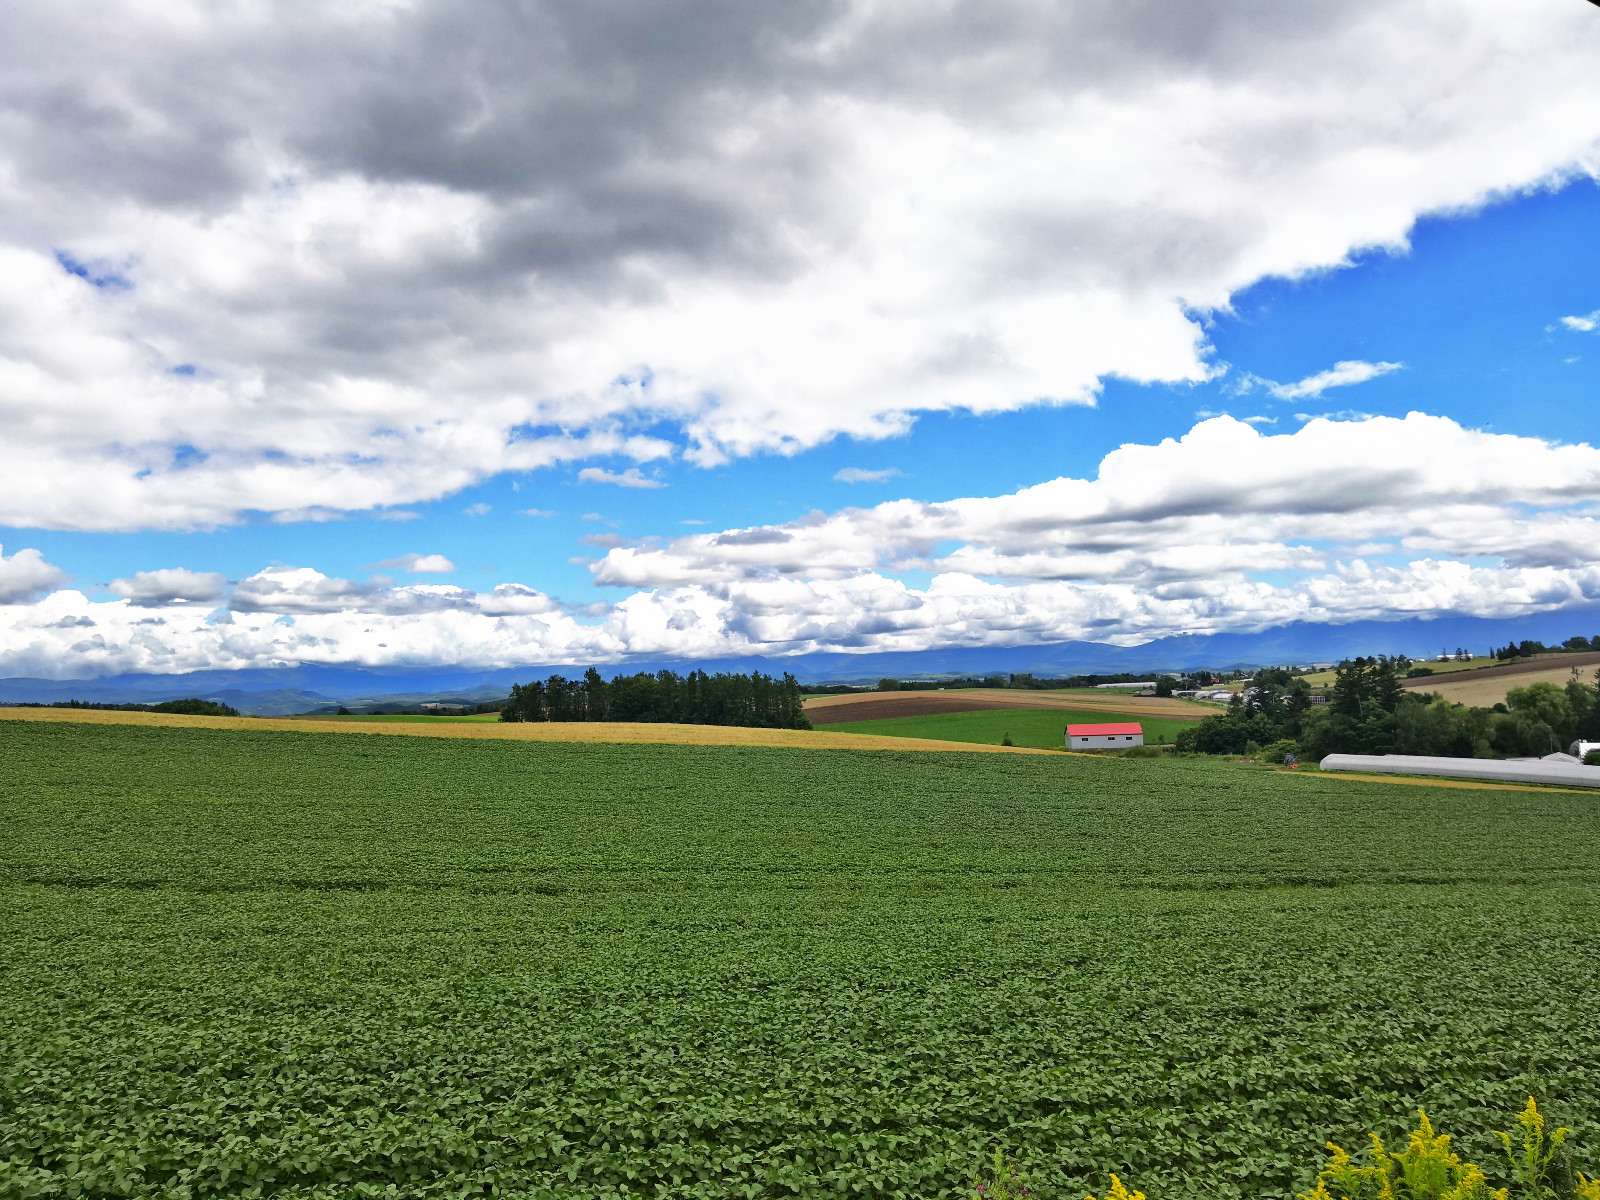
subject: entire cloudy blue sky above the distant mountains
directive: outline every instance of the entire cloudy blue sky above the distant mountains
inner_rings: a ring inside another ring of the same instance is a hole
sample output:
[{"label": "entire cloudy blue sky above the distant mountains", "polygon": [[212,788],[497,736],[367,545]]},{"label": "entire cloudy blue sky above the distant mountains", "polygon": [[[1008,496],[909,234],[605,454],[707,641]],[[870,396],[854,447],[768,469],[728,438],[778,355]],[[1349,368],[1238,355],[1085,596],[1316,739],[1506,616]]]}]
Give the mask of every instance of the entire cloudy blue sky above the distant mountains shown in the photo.
[{"label": "entire cloudy blue sky above the distant mountains", "polygon": [[3,677],[1600,605],[1594,5],[0,21]]}]

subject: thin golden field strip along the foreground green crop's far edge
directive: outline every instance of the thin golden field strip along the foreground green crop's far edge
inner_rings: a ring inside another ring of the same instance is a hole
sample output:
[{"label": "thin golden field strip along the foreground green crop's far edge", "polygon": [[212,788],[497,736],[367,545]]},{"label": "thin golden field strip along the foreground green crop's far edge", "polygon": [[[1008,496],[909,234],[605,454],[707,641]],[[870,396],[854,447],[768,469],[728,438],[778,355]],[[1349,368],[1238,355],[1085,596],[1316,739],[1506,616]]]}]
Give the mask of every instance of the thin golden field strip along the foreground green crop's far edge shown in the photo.
[{"label": "thin golden field strip along the foreground green crop's far edge", "polygon": [[797,750],[960,750],[963,754],[1066,754],[1026,746],[979,746],[922,738],[810,730],[747,730],[730,725],[651,725],[635,722],[427,722],[318,720],[315,717],[186,717],[115,709],[5,709],[0,720],[82,722],[86,725],[168,725],[186,730],[278,730],[285,733],[371,733],[402,738],[496,738],[530,742],[630,742],[640,746],[778,746]]}]

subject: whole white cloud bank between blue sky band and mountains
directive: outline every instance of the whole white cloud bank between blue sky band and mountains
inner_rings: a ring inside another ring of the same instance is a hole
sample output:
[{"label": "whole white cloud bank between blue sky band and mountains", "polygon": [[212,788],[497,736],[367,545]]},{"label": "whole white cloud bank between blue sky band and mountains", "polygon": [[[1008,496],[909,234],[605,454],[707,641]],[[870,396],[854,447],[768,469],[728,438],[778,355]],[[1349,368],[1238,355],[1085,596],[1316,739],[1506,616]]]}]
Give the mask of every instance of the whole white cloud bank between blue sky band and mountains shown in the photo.
[{"label": "whole white cloud bank between blue sky band and mountains", "polygon": [[[0,608],[0,672],[510,667],[1514,618],[1600,603],[1597,544],[1589,445],[1422,414],[1318,419],[1291,435],[1213,418],[1181,440],[1123,446],[1093,480],[613,547],[592,570],[637,590],[600,610],[523,584],[376,586],[304,566],[258,571],[222,606],[216,579],[176,570],[117,581],[125,598],[96,602],[59,589],[35,552],[0,554],[0,589],[34,600]],[[429,570],[429,555],[411,558]],[[888,573],[907,566],[930,582]]]}]

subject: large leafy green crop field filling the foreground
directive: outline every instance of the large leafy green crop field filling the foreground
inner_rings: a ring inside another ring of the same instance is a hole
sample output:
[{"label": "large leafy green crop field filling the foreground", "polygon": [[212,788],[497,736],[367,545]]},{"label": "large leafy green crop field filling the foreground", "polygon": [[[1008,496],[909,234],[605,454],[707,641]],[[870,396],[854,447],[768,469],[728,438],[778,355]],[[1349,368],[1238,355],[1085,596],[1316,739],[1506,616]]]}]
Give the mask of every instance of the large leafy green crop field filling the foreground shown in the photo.
[{"label": "large leafy green crop field filling the foreground", "polygon": [[1600,805],[1211,760],[0,725],[0,1195],[1290,1197],[1536,1083]]}]

